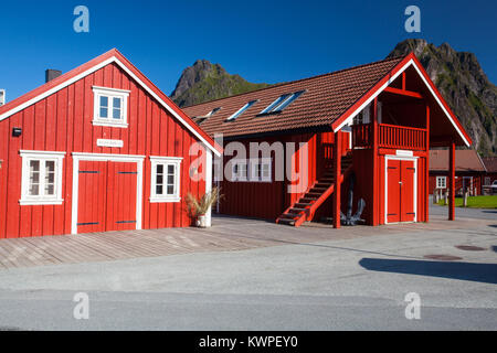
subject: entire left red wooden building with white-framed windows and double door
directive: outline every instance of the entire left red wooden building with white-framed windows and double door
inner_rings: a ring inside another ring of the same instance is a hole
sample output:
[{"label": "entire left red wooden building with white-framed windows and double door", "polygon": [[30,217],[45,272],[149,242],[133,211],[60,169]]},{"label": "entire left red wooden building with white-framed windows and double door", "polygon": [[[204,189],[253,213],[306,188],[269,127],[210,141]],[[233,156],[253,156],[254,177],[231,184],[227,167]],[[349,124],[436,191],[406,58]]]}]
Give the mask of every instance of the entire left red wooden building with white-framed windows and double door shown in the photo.
[{"label": "entire left red wooden building with white-framed windows and double door", "polygon": [[212,153],[112,50],[0,107],[0,238],[187,226],[184,195],[210,190]]}]

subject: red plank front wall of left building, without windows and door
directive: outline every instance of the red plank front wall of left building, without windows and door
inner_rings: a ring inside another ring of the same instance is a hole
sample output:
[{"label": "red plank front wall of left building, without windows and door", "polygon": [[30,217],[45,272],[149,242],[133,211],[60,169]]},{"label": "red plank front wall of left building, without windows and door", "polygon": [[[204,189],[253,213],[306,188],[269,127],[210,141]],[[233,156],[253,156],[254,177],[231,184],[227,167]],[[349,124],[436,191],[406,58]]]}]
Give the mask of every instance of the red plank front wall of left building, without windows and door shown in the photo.
[{"label": "red plank front wall of left building, without windows and door", "polygon": [[[128,128],[93,126],[92,86],[130,90]],[[11,136],[13,127],[22,136]],[[97,139],[118,139],[123,148],[97,147]],[[190,146],[195,137],[163,109],[117,65],[109,64],[0,121],[0,238],[71,233],[73,159],[71,153],[116,153],[146,156],[144,160],[142,228],[180,227],[190,224],[184,196],[205,190],[203,181],[189,176]],[[63,161],[62,205],[19,205],[21,197],[20,150],[66,151]],[[181,202],[149,203],[150,160],[148,156],[183,157]]]}]

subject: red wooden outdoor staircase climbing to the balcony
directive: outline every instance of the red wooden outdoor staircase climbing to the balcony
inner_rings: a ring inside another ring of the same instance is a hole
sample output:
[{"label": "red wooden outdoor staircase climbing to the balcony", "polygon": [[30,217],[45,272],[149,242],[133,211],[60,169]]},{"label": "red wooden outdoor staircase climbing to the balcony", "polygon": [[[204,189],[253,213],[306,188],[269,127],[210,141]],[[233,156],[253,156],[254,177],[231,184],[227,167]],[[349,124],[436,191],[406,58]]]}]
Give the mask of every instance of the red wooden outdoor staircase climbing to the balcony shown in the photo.
[{"label": "red wooden outdoor staircase climbing to the balcony", "polygon": [[[349,153],[341,158],[340,183],[352,170],[352,154]],[[314,217],[317,208],[334,193],[335,175],[334,170],[328,169],[321,178],[318,179],[304,194],[300,200],[288,207],[277,220],[278,224],[300,226],[305,221]]]}]

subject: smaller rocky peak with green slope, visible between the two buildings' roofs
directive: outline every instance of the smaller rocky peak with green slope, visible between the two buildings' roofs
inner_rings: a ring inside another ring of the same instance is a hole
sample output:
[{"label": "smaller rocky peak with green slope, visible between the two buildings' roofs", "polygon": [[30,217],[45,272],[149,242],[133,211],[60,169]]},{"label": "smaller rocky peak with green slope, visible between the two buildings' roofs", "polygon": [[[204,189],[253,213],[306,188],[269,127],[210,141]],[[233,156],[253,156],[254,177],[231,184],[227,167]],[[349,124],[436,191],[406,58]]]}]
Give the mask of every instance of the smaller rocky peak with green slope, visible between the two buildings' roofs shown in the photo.
[{"label": "smaller rocky peak with green slope, visible between the two buildings' roofs", "polygon": [[219,64],[198,60],[193,66],[183,71],[171,98],[180,107],[186,107],[267,86],[267,84],[252,84],[240,75],[230,75]]}]

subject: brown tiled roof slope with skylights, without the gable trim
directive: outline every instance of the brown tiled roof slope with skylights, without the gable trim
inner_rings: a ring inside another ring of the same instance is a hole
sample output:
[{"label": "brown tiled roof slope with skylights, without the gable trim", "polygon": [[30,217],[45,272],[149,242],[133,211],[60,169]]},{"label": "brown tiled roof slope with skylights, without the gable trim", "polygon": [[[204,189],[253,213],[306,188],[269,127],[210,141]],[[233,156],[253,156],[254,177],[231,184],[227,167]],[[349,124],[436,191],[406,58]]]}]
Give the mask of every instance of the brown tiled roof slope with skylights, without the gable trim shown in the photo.
[{"label": "brown tiled roof slope with skylights, without the gable trim", "polygon": [[[243,136],[330,126],[403,58],[384,60],[284,83],[186,107],[183,111],[193,118],[205,116],[212,109],[221,107],[218,113],[201,122],[202,129],[211,136],[221,132],[225,137]],[[305,90],[305,93],[281,113],[260,115],[279,96],[299,90]],[[228,117],[251,100],[257,100],[257,103],[233,121],[225,121]]]}]

